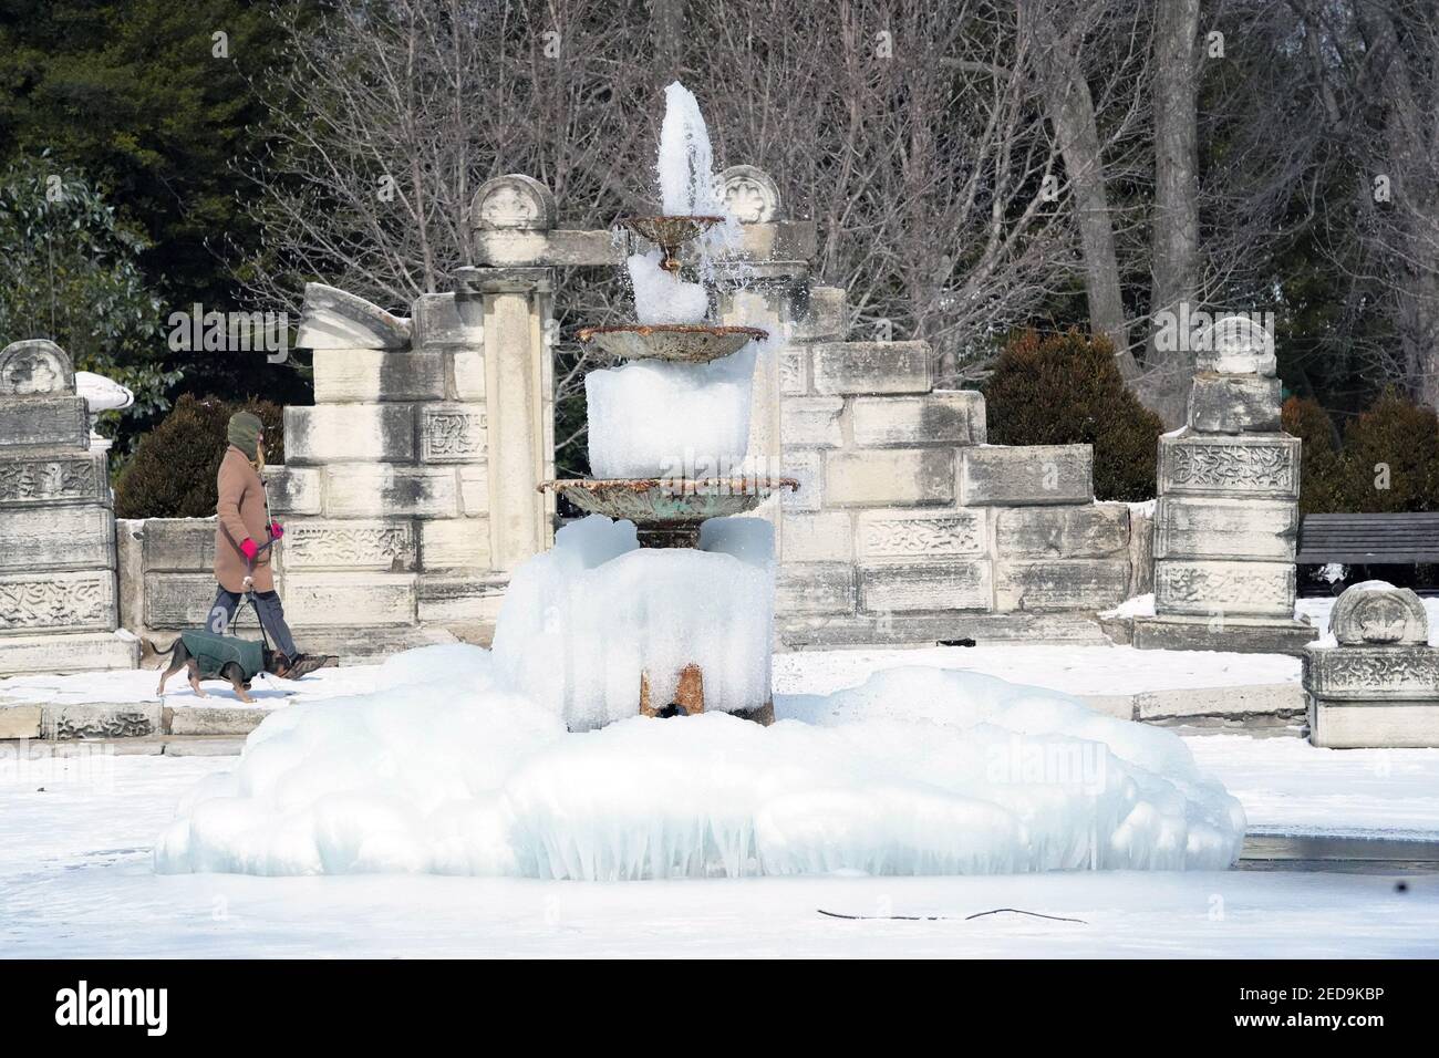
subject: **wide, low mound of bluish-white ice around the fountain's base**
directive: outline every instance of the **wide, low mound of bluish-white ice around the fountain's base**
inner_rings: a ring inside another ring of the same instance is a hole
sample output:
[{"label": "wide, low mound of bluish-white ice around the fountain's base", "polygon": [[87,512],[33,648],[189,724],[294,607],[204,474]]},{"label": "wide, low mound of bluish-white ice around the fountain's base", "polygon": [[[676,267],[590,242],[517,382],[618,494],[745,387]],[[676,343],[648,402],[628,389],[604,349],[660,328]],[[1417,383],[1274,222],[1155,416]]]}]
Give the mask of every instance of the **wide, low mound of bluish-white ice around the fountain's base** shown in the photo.
[{"label": "wide, low mound of bluish-white ice around the fountain's base", "polygon": [[1177,736],[1063,695],[912,668],[777,710],[768,728],[707,713],[571,734],[485,651],[423,648],[374,694],[271,714],[186,797],[155,867],[623,880],[1239,854],[1239,803]]}]

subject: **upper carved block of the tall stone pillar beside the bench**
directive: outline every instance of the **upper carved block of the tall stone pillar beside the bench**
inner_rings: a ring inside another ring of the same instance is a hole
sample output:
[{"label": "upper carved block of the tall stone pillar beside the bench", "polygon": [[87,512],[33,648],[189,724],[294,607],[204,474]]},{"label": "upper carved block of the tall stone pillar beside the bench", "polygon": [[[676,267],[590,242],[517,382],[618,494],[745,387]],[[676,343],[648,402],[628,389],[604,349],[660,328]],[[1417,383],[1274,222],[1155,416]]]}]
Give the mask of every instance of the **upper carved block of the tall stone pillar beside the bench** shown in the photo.
[{"label": "upper carved block of the tall stone pillar beside the bench", "polygon": [[1160,495],[1299,498],[1299,439],[1183,430],[1160,438]]}]

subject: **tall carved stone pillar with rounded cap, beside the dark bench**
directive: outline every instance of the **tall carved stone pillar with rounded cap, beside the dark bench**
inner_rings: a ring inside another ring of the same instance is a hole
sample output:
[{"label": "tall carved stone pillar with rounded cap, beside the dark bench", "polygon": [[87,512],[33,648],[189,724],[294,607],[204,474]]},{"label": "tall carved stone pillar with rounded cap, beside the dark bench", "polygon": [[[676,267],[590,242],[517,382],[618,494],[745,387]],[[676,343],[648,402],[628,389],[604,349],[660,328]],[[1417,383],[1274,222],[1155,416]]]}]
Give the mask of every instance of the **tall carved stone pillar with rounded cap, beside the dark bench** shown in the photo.
[{"label": "tall carved stone pillar with rounded cap, beside the dark bench", "polygon": [[1299,439],[1279,429],[1272,340],[1230,317],[1197,354],[1189,425],[1160,438],[1154,616],[1141,649],[1294,652]]}]

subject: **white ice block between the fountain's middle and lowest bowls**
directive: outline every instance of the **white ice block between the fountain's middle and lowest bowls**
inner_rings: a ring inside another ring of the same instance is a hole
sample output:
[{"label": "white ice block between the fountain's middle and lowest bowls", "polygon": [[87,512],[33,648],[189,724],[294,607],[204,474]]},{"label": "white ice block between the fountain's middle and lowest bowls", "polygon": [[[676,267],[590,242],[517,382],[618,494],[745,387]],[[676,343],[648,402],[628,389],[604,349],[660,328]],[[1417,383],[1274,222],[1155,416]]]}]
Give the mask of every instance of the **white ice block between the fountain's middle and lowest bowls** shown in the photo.
[{"label": "white ice block between the fountain's middle and lowest bowls", "polygon": [[695,458],[740,461],[750,446],[757,345],[708,364],[635,360],[590,371],[590,472],[596,478],[681,476]]}]

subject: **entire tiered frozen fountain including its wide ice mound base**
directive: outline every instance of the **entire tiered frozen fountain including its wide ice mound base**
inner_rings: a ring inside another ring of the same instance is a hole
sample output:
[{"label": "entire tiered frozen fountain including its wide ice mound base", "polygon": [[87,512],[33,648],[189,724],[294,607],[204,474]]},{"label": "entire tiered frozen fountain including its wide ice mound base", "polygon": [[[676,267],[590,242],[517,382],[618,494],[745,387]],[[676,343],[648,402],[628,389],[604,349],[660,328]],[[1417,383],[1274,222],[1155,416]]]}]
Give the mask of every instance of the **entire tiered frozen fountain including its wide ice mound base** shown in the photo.
[{"label": "entire tiered frozen fountain including its wide ice mound base", "polygon": [[[773,527],[721,515],[794,482],[732,472],[773,351],[705,322],[707,263],[734,227],[709,170],[694,96],[672,85],[663,216],[627,222],[649,243],[627,261],[637,321],[583,335],[625,361],[589,376],[594,476],[545,484],[591,514],[514,569],[494,649],[407,651],[366,692],[276,710],[233,773],[181,802],[157,871],[613,881],[1235,862],[1243,810],[1173,731],[927,666],[771,697]],[[691,472],[701,462],[715,472]]]}]

